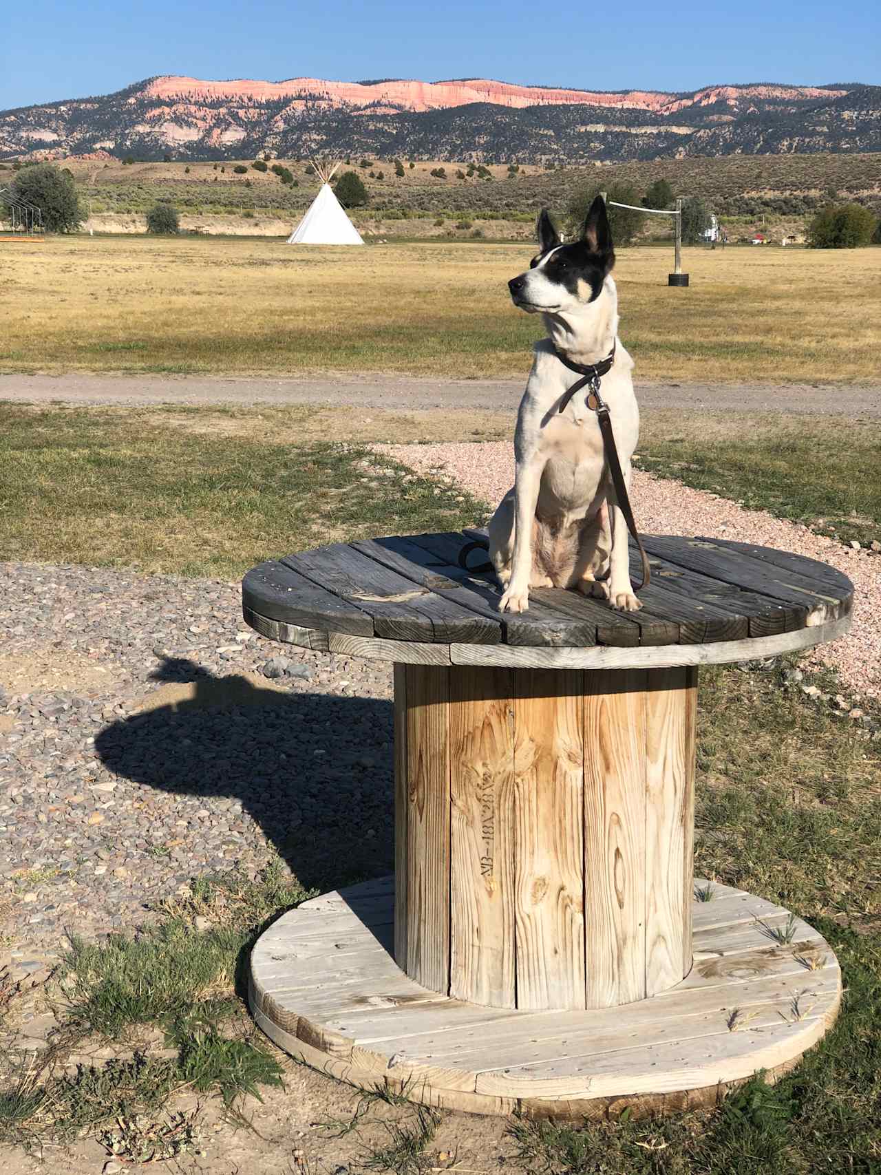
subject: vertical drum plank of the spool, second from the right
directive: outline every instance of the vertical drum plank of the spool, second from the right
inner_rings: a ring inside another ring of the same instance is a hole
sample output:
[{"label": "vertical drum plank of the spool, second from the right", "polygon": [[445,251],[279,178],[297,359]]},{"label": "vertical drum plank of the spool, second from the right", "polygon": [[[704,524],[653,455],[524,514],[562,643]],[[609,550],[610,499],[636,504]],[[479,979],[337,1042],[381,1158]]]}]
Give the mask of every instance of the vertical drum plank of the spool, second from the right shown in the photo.
[{"label": "vertical drum plank of the spool, second from the right", "polygon": [[645,998],[646,676],[584,679],[586,1007]]}]

